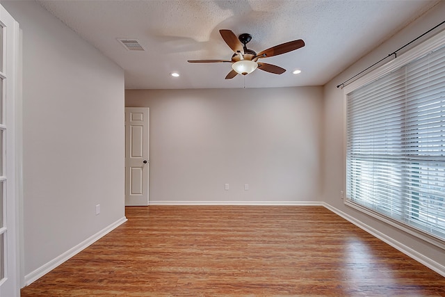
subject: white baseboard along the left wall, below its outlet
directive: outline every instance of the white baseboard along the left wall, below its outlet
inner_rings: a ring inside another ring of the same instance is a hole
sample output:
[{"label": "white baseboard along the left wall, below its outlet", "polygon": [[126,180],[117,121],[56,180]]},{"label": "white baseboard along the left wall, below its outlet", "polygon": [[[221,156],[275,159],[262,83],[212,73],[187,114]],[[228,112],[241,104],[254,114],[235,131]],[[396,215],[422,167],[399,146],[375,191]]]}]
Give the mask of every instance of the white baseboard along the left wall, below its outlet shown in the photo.
[{"label": "white baseboard along the left wall, below its outlet", "polygon": [[67,261],[67,259],[70,259],[74,255],[78,254],[85,248],[88,248],[88,246],[92,245],[92,243],[95,243],[95,241],[98,241],[103,236],[108,234],[109,232],[113,231],[116,227],[122,225],[127,221],[126,217],[120,218],[119,220],[115,221],[115,223],[112,223],[111,225],[108,225],[104,229],[100,230],[96,234],[90,236],[88,239],[82,241],[77,246],[74,246],[73,248],[70,248],[70,250],[67,250],[62,255],[56,257],[55,259],[52,259],[47,264],[44,264],[43,266],[40,266],[39,268],[35,269],[35,271],[25,275],[24,279],[24,285],[29,286],[35,280],[38,280],[43,275],[49,273],[49,271],[53,270],[63,262]]}]

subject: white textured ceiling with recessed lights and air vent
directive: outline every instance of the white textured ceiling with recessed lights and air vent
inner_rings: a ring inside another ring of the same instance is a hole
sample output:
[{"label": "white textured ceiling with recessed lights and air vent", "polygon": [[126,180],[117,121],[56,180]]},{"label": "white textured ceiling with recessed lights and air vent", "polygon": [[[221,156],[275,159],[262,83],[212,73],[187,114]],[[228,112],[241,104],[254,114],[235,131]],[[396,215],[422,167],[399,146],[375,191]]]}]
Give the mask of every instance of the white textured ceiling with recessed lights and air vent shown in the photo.
[{"label": "white textured ceiling with recessed lights and air vent", "polygon": [[[125,88],[170,89],[323,86],[439,1],[38,2],[120,65]],[[284,74],[255,70],[226,80],[229,63],[187,63],[232,56],[219,29],[250,33],[248,48],[257,52],[297,39],[306,46],[262,59]],[[127,51],[117,38],[136,38],[146,50]]]}]

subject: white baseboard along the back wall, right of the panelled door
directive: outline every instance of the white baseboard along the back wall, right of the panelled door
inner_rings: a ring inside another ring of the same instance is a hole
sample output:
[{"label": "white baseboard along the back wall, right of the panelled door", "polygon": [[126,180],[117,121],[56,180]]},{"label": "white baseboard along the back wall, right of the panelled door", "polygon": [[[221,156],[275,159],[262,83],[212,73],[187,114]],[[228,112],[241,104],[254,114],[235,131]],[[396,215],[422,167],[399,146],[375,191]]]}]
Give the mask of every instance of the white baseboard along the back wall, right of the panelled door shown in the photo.
[{"label": "white baseboard along the back wall, right of the panelled door", "polygon": [[324,206],[320,201],[149,201],[149,205],[295,205]]}]

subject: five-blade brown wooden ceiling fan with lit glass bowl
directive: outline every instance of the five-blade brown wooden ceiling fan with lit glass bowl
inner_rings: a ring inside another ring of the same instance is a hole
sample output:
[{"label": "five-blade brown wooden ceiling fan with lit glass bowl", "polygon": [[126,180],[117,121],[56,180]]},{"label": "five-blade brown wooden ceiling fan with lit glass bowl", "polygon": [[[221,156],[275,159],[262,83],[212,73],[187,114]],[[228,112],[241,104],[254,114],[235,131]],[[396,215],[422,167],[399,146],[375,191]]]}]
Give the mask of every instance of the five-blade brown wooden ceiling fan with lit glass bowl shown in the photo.
[{"label": "five-blade brown wooden ceiling fan with lit glass bowl", "polygon": [[231,60],[188,60],[188,63],[232,63],[232,71],[227,74],[225,79],[233,79],[238,74],[246,75],[252,73],[257,67],[266,72],[282,74],[286,71],[284,68],[268,63],[261,63],[258,62],[258,60],[260,58],[286,54],[289,51],[294,51],[305,46],[305,42],[299,39],[285,42],[281,45],[275,45],[275,47],[270,47],[257,54],[246,46],[248,42],[252,40],[250,34],[243,33],[237,38],[232,31],[227,29],[221,29],[220,34],[225,43],[234,51]]}]

